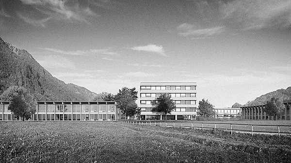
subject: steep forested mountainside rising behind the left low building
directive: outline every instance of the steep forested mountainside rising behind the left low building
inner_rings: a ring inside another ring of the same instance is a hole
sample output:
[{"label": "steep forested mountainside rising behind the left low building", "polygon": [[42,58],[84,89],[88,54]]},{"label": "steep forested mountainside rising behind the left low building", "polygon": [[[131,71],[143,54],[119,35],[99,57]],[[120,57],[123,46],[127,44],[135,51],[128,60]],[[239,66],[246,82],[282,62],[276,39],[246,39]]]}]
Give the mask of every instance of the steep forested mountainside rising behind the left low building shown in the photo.
[{"label": "steep forested mountainside rising behind the left low building", "polygon": [[10,86],[28,89],[37,101],[89,101],[97,95],[53,77],[26,50],[0,38],[0,94]]}]

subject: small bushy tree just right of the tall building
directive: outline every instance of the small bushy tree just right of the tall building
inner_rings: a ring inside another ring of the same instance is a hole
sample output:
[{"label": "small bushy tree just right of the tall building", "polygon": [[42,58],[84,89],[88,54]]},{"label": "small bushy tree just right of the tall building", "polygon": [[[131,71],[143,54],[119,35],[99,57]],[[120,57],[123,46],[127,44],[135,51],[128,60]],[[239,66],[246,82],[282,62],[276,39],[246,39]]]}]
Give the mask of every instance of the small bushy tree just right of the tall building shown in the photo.
[{"label": "small bushy tree just right of the tall building", "polygon": [[199,101],[197,115],[201,117],[215,116],[213,105],[208,100],[202,99],[202,101]]}]

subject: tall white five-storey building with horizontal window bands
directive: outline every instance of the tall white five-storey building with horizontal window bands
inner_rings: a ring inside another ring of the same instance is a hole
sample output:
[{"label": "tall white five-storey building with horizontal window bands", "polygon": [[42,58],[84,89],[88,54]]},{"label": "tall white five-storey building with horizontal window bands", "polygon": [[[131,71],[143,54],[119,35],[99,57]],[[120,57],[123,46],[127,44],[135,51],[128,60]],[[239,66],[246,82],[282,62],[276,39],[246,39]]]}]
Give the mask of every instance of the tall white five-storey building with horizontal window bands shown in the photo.
[{"label": "tall white five-storey building with horizontal window bands", "polygon": [[176,109],[167,119],[195,119],[197,109],[196,82],[141,82],[140,108],[141,119],[165,119],[155,112],[157,98],[162,93],[170,93]]}]

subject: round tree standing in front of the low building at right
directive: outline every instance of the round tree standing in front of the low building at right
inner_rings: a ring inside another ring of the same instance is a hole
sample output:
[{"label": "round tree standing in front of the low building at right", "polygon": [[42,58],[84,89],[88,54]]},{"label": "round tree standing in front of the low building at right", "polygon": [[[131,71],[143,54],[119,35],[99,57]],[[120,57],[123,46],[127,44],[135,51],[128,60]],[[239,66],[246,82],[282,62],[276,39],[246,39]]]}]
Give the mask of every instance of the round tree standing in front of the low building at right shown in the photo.
[{"label": "round tree standing in front of the low building at right", "polygon": [[267,101],[264,112],[268,116],[274,116],[274,120],[276,120],[276,116],[282,115],[284,112],[284,104],[278,98],[271,98],[270,101]]}]

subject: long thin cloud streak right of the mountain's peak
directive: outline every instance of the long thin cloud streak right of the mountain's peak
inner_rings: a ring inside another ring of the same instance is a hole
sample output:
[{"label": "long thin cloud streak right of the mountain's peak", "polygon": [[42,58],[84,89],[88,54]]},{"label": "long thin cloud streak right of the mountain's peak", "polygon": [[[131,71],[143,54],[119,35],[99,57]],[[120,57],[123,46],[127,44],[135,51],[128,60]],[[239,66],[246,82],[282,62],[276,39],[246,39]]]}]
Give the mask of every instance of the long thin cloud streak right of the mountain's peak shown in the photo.
[{"label": "long thin cloud streak right of the mountain's peak", "polygon": [[88,56],[88,55],[110,55],[110,56],[119,56],[120,54],[115,52],[110,52],[107,49],[90,49],[90,50],[77,50],[77,51],[65,51],[54,48],[43,48],[44,50],[48,50],[55,53],[65,54],[65,55],[80,55],[80,56]]}]

